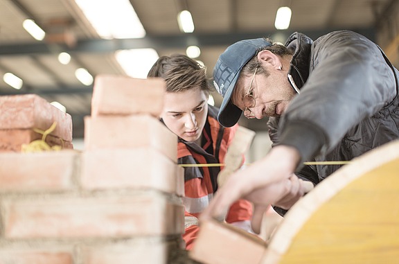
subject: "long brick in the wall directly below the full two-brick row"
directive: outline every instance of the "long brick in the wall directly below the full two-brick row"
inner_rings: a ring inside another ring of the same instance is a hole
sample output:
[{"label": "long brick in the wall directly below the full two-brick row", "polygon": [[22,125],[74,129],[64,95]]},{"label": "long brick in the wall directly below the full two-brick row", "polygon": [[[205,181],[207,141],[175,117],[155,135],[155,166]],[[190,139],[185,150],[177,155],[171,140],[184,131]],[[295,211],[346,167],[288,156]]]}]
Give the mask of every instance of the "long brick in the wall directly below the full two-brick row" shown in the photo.
[{"label": "long brick in the wall directly below the full two-brick row", "polygon": [[[119,196],[119,197],[118,197]],[[156,192],[3,201],[5,238],[129,238],[182,234],[184,206]]]}]

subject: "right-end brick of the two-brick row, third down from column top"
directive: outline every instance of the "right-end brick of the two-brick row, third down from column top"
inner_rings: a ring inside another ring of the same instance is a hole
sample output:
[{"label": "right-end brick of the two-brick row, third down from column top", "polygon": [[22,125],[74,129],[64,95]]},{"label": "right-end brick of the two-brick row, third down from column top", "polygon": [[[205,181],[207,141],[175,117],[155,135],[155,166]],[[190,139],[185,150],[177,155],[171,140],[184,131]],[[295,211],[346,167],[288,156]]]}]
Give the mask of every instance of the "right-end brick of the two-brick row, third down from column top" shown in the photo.
[{"label": "right-end brick of the two-brick row, third down from column top", "polygon": [[[154,188],[181,193],[177,164],[154,148],[86,150],[82,152],[83,188]],[[184,183],[183,183],[184,184]]]}]

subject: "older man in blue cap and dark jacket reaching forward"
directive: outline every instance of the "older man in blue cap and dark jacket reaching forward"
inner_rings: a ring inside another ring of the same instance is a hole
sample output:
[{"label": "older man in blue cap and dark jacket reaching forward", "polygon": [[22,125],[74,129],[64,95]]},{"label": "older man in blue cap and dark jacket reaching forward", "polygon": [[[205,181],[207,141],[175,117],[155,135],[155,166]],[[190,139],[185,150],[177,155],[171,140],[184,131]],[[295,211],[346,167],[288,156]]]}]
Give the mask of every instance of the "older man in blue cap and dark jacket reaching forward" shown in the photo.
[{"label": "older man in blue cap and dark jacket reaching forward", "polygon": [[267,39],[229,46],[213,72],[224,97],[218,121],[229,127],[242,112],[247,118],[267,116],[274,148],[231,175],[204,219],[220,215],[240,197],[290,209],[303,188],[292,185],[286,195],[283,189],[272,190],[272,182],[296,173],[318,184],[340,167],[303,166],[303,161],[349,161],[398,139],[398,76],[376,44],[348,30],[314,42],[294,33],[285,46]]}]

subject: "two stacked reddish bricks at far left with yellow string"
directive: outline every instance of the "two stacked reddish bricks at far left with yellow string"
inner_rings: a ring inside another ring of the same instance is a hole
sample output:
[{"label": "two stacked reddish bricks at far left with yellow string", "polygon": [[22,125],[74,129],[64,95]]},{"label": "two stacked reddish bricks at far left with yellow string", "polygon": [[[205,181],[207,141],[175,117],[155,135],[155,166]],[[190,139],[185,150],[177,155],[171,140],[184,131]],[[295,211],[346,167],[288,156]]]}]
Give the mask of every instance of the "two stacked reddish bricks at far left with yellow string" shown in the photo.
[{"label": "two stacked reddish bricks at far left with yellow string", "polygon": [[0,96],[0,152],[20,152],[23,144],[42,139],[37,131],[55,130],[46,136],[49,146],[71,149],[72,120],[35,94]]}]

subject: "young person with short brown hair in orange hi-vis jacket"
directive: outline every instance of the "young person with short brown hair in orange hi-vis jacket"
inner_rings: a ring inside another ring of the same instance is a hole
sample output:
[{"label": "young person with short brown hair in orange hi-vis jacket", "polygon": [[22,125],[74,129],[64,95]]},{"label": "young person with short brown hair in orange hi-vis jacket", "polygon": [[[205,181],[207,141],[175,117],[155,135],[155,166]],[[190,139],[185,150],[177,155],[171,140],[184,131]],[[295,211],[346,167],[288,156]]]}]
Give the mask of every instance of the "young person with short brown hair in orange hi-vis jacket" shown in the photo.
[{"label": "young person with short brown hair in orange hi-vis jacket", "polygon": [[[148,77],[166,80],[166,96],[161,121],[177,134],[179,164],[221,164],[237,130],[237,125],[222,127],[218,109],[208,105],[210,87],[206,69],[186,55],[163,56],[150,69]],[[199,230],[197,217],[208,206],[218,189],[220,167],[184,168],[186,249],[193,247]],[[252,204],[232,203],[227,222],[251,231]]]}]

